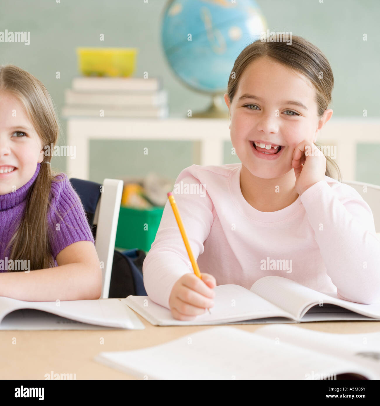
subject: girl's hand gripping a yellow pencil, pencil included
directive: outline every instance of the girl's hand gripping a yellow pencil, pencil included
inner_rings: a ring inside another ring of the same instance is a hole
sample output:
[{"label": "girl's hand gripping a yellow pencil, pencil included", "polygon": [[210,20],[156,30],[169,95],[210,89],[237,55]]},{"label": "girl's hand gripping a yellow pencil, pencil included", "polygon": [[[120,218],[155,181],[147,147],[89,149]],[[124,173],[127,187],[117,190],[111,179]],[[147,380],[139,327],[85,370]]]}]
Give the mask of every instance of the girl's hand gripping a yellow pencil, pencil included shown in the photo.
[{"label": "girl's hand gripping a yellow pencil, pencil included", "polygon": [[212,289],[216,286],[216,280],[210,274],[200,273],[198,264],[191,251],[174,196],[172,192],[169,192],[167,195],[194,270],[194,274],[187,273],[176,281],[170,293],[169,305],[174,318],[178,320],[193,320],[196,315],[203,314],[206,308],[210,312],[209,308],[213,307],[214,302],[212,299],[215,297],[215,292]]}]

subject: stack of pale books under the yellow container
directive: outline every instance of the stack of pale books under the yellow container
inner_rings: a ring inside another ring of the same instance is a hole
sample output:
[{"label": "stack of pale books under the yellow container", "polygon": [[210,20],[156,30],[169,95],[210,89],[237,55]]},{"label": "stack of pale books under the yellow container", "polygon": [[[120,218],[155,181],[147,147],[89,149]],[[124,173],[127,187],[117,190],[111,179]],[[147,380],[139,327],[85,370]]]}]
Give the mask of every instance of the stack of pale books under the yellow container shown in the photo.
[{"label": "stack of pale books under the yellow container", "polygon": [[63,116],[165,118],[167,91],[159,78],[76,77],[65,90]]}]

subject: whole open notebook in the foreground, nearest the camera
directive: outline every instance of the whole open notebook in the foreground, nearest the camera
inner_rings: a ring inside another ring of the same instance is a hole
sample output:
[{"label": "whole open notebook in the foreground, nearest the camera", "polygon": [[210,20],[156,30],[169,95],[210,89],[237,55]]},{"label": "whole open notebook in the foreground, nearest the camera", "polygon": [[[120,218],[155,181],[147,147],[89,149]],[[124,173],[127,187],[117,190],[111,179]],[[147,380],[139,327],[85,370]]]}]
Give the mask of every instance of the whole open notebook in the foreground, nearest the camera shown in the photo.
[{"label": "whole open notebook in the foreground, nearest the camera", "polygon": [[[364,340],[365,338],[365,340]],[[142,379],[379,379],[380,333],[330,334],[274,324],[219,326],[95,361]]]}]

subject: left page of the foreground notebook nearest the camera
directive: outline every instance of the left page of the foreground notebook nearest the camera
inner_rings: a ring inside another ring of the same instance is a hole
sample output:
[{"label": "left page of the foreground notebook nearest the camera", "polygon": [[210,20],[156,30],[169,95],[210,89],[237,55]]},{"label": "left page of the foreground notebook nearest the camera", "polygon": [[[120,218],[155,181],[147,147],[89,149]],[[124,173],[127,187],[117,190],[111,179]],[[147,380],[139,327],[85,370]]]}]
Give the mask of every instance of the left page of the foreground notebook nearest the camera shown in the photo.
[{"label": "left page of the foreground notebook nearest the camera", "polygon": [[95,360],[143,379],[305,379],[312,371],[365,375],[343,359],[224,326],[142,350],[102,352]]}]

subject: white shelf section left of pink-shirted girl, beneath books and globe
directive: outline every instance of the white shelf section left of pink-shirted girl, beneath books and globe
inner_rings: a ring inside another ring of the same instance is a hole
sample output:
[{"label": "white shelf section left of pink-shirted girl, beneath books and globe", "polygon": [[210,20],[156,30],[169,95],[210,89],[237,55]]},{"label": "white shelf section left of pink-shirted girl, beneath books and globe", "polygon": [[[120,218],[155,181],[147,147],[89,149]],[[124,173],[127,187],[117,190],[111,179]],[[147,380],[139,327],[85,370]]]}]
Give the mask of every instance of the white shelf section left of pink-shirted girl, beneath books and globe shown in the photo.
[{"label": "white shelf section left of pink-shirted girl, beneath books and globe", "polygon": [[198,164],[221,165],[223,143],[230,140],[230,129],[227,119],[68,117],[66,143],[76,146],[76,159],[67,157],[69,177],[89,179],[89,141],[99,139],[199,141]]}]

